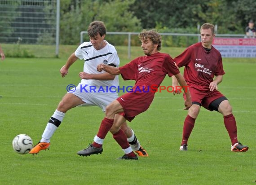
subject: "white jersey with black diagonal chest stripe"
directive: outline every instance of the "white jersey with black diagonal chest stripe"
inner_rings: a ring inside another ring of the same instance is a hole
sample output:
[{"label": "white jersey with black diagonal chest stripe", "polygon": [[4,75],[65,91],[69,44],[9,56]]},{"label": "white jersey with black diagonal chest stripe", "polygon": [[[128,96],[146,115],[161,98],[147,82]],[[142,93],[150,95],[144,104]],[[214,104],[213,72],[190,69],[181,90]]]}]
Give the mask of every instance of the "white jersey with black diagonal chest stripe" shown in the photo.
[{"label": "white jersey with black diagonal chest stripe", "polygon": [[[84,42],[75,50],[75,56],[80,60],[84,59],[84,72],[88,74],[105,73],[105,71],[97,71],[97,65],[102,63],[119,66],[120,61],[115,47],[106,40],[104,40],[104,42],[106,42],[106,46],[100,50],[96,50],[91,42]],[[115,76],[114,80],[82,79],[81,84],[94,86],[97,89],[106,89],[106,86],[108,86],[108,88],[110,86],[117,87],[119,85],[119,79],[118,76]]]}]

